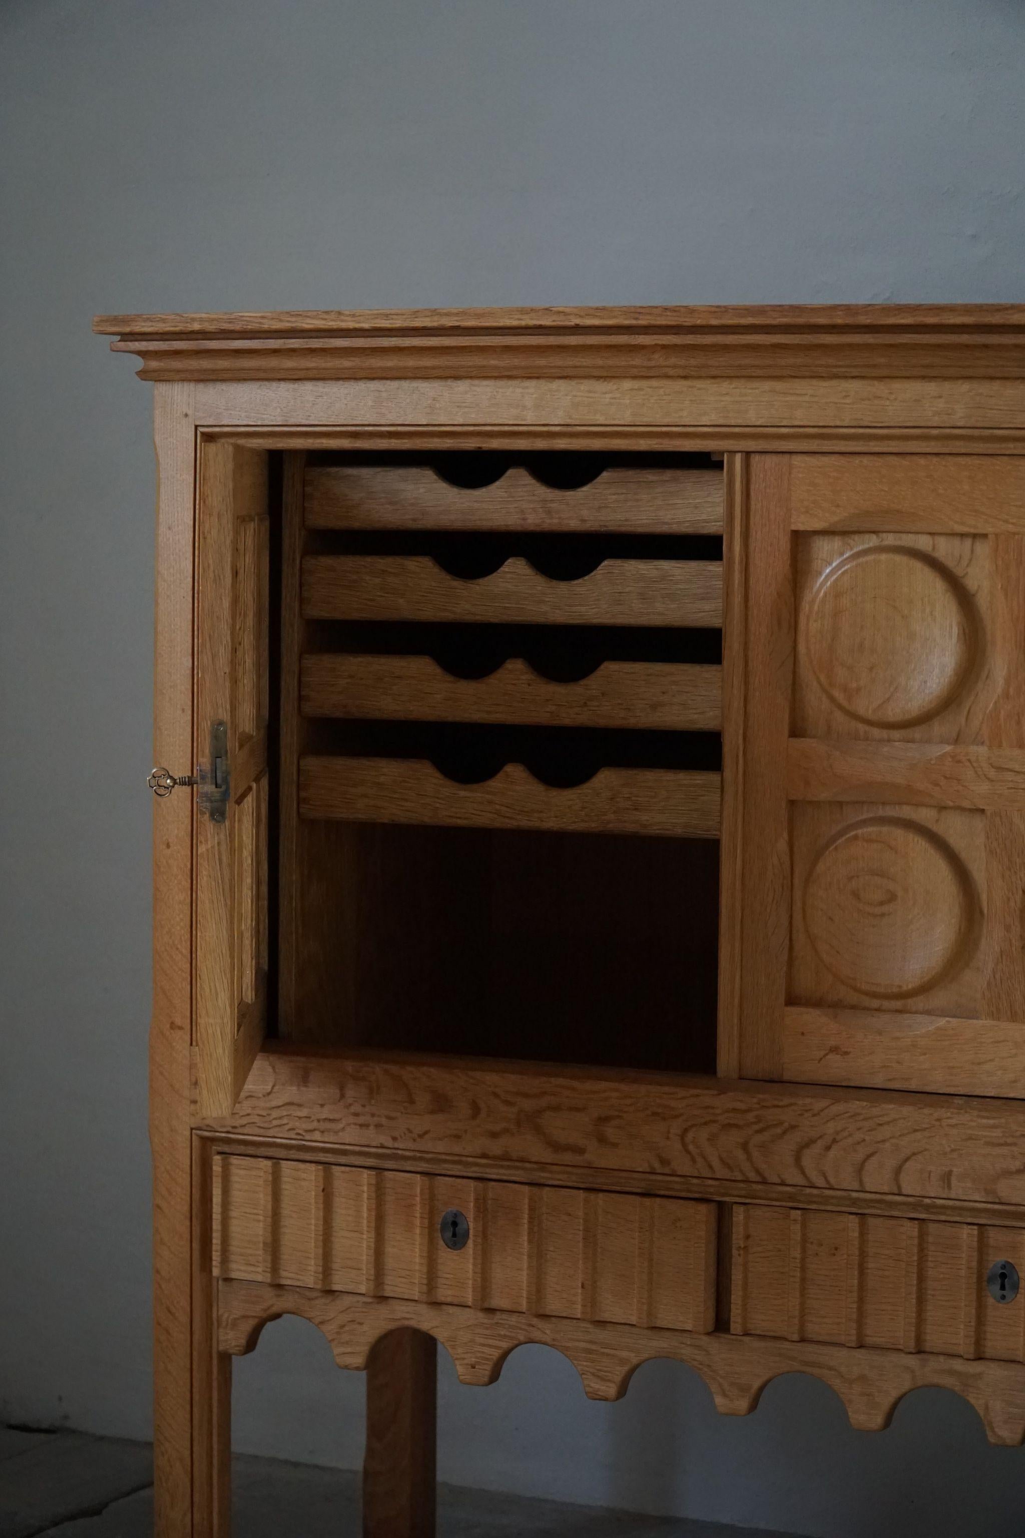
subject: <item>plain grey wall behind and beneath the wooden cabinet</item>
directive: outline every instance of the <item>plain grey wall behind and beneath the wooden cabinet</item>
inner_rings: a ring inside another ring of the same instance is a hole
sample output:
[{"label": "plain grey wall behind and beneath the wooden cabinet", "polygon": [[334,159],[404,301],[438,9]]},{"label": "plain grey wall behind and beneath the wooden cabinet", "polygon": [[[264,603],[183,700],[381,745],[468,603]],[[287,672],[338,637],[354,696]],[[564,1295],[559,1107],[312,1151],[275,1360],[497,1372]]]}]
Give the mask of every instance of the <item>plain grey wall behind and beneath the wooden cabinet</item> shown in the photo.
[{"label": "plain grey wall behind and beneath the wooden cabinet", "polygon": [[[6,0],[0,8],[0,1383],[149,1427],[149,389],[97,311],[1022,294],[1019,0]],[[237,1443],[352,1464],[297,1321]],[[446,1478],[848,1538],[1020,1527],[1025,1452],[927,1390],[851,1432],[652,1363],[444,1378]],[[1014,1515],[1019,1520],[1014,1523]]]}]

